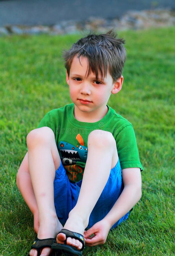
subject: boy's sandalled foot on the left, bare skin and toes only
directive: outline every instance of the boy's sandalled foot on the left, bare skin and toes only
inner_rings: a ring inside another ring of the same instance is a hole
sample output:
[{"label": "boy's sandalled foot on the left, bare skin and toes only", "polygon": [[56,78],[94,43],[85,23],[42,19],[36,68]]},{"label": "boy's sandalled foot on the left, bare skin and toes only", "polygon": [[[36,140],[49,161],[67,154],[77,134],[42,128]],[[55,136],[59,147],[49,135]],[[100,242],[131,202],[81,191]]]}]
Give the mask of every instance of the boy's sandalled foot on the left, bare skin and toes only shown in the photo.
[{"label": "boy's sandalled foot on the left, bare skin and toes only", "polygon": [[[38,239],[46,239],[46,238],[55,238],[58,232],[63,228],[61,223],[59,222],[57,216],[54,218],[46,218],[47,221],[40,223],[39,231],[37,234]],[[44,247],[41,250],[40,256],[49,256],[52,249],[50,247]],[[37,250],[31,249],[30,256],[37,256]]]}]

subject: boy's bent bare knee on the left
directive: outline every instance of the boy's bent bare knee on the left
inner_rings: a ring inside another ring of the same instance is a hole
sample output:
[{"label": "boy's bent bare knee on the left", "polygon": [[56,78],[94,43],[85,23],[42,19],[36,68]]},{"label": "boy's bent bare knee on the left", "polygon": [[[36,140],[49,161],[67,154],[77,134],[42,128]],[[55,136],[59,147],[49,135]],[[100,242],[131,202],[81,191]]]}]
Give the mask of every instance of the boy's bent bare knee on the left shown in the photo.
[{"label": "boy's bent bare knee on the left", "polygon": [[37,143],[48,143],[55,139],[52,129],[49,127],[41,127],[34,129],[27,135],[27,147],[31,147]]}]

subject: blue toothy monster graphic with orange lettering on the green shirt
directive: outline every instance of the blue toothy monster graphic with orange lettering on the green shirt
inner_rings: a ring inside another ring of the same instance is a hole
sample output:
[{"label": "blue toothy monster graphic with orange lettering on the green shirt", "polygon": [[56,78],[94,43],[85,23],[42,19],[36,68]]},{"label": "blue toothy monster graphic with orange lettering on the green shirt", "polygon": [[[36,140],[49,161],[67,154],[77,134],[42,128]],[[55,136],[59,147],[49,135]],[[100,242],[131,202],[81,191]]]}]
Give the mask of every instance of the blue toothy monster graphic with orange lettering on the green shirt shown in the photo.
[{"label": "blue toothy monster graphic with orange lettering on the green shirt", "polygon": [[76,136],[79,145],[74,146],[65,141],[60,141],[59,150],[61,152],[61,160],[67,175],[71,181],[77,181],[77,175],[83,176],[83,168],[78,165],[78,162],[86,163],[87,147],[84,146],[82,136],[78,133]]}]

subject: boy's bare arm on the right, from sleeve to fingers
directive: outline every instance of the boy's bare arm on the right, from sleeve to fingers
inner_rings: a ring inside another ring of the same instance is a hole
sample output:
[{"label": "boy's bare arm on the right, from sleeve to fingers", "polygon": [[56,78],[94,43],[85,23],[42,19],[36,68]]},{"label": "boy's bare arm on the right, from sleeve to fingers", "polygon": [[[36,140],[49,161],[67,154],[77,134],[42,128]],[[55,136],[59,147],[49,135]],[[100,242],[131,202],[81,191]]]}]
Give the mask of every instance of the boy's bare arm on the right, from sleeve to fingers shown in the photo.
[{"label": "boy's bare arm on the right, from sleeve to fingers", "polygon": [[[142,180],[140,168],[126,168],[122,170],[124,189],[118,200],[103,218],[84,233],[88,246],[103,244],[110,228],[140,200]],[[90,235],[94,234],[92,237]]]}]

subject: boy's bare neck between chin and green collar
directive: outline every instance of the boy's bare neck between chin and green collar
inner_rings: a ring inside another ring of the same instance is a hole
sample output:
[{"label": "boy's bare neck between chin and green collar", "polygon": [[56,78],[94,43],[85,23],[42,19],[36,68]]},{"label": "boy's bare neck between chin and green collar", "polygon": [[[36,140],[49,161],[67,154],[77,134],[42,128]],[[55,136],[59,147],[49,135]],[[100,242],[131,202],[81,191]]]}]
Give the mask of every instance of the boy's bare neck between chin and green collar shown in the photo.
[{"label": "boy's bare neck between chin and green collar", "polygon": [[74,117],[80,122],[95,123],[100,121],[108,112],[108,107],[105,106],[104,110],[97,109],[93,112],[82,112],[74,105]]}]

